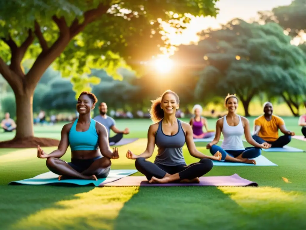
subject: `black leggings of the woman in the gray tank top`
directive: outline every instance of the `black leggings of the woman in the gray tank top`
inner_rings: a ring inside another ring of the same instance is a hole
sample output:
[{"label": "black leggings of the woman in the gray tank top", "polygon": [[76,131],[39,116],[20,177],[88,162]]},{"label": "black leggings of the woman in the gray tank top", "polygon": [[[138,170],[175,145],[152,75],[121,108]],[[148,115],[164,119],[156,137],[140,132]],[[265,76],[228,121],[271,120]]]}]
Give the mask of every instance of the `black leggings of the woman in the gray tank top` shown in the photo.
[{"label": "black leggings of the woman in the gray tank top", "polygon": [[155,164],[150,161],[146,161],[143,157],[137,158],[135,161],[136,169],[144,174],[147,180],[151,180],[154,176],[156,178],[163,178],[166,173],[176,174],[178,173],[180,179],[193,179],[201,177],[211,171],[214,166],[211,159],[201,159],[200,162],[192,163],[190,165],[181,164],[175,166],[166,166],[161,164]]}]

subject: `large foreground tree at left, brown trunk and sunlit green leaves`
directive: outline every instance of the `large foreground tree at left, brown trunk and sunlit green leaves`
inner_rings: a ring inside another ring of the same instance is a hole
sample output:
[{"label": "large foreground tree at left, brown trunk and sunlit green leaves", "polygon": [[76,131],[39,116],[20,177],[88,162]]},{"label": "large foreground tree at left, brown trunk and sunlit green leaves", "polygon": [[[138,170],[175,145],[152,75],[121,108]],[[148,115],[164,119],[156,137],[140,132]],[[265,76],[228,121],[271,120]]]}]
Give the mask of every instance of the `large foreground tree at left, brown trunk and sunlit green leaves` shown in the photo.
[{"label": "large foreground tree at left, brown trunk and sunlit green leaves", "polygon": [[[168,46],[160,23],[178,30],[192,15],[216,15],[216,0],[15,0],[0,3],[0,74],[17,103],[15,139],[33,136],[32,95],[55,61],[74,91],[90,90],[90,69],[137,67]],[[181,26],[180,26],[181,25]],[[27,74],[21,68],[31,58]],[[117,76],[118,77],[118,76]]]}]

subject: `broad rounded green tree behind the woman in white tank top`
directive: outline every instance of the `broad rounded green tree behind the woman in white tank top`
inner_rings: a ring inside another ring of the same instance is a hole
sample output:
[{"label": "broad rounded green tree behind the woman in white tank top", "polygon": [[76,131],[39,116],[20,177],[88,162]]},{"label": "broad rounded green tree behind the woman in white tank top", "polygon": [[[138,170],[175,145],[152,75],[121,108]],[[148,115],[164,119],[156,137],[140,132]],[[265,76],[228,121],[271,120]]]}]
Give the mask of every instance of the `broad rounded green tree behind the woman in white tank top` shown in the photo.
[{"label": "broad rounded green tree behind the woman in white tank top", "polygon": [[199,47],[203,48],[205,67],[195,90],[198,98],[236,93],[248,116],[248,105],[259,92],[271,92],[293,102],[305,93],[304,52],[290,44],[290,37],[278,24],[235,19],[202,36],[205,39]]}]

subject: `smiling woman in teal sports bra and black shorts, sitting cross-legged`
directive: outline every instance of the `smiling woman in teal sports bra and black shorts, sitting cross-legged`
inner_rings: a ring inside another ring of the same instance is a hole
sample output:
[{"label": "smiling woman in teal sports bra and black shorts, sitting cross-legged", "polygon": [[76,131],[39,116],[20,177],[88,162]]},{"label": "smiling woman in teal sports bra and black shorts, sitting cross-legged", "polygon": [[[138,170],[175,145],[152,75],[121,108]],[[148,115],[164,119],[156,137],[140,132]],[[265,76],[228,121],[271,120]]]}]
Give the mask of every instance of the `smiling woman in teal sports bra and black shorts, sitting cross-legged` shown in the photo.
[{"label": "smiling woman in teal sports bra and black shorts, sitting cross-legged", "polygon": [[[79,118],[64,125],[58,149],[47,154],[40,146],[37,147],[37,157],[47,159],[48,169],[60,175],[58,180],[106,178],[110,172],[110,159],[119,158],[117,148],[110,150],[105,126],[90,117],[97,101],[94,94],[82,92],[76,104]],[[59,158],[65,154],[69,145],[71,162],[67,163]]]}]

